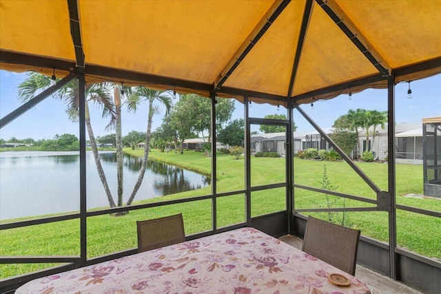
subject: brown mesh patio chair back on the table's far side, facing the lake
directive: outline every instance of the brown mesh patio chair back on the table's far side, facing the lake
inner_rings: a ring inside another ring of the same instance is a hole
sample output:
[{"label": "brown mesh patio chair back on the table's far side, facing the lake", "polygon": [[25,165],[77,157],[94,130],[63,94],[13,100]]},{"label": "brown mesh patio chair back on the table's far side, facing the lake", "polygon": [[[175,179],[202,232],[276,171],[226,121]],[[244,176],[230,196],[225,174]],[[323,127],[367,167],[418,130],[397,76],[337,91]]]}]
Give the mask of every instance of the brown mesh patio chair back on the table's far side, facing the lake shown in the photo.
[{"label": "brown mesh patio chair back on the table's far side, facing the lake", "polygon": [[136,222],[138,230],[138,252],[185,242],[182,213],[153,220]]}]

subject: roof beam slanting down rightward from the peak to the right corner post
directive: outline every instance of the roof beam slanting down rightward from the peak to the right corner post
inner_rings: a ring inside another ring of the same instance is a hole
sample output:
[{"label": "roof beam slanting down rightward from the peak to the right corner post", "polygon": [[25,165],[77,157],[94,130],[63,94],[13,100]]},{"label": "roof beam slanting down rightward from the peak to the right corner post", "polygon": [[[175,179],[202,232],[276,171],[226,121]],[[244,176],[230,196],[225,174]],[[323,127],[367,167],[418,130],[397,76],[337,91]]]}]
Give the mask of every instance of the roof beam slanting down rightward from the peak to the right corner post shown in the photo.
[{"label": "roof beam slanting down rightward from the peak to the right corner post", "polygon": [[338,6],[334,0],[316,0],[318,5],[325,10],[329,17],[338,25],[354,45],[366,56],[366,58],[375,66],[387,80],[391,80],[391,66],[382,58],[369,40],[363,36],[356,25],[353,24],[347,14]]}]

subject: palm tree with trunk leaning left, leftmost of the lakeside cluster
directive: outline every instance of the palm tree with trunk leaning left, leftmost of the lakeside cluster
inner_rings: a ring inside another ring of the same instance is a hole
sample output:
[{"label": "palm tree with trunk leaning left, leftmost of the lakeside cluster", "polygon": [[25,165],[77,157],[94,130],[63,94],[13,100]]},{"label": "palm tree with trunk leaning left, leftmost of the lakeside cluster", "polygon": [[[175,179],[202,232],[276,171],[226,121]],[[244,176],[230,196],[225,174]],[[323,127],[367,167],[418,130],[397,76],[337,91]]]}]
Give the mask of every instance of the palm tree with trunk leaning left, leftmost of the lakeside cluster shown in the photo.
[{"label": "palm tree with trunk leaning left, leftmost of the lakeside cluster", "polygon": [[[29,101],[34,98],[37,92],[43,91],[50,87],[52,80],[48,76],[43,76],[37,72],[30,72],[28,78],[23,81],[18,87],[19,90],[19,100],[22,102]],[[92,130],[92,125],[90,123],[90,113],[88,107],[88,101],[93,101],[96,103],[101,103],[104,105],[105,113],[112,114],[112,103],[110,93],[107,87],[100,84],[86,85],[85,87],[86,101],[85,101],[85,125],[88,129],[90,145],[92,147],[92,152],[94,154],[94,160],[96,164],[96,169],[99,174],[99,178],[103,183],[103,188],[107,196],[110,207],[116,207],[115,202],[112,198],[112,193],[110,192],[109,185],[107,184],[107,179],[105,178],[103,166],[101,165],[101,160],[99,159],[98,148],[96,147],[96,140]],[[52,97],[57,98],[60,101],[68,104],[68,115],[70,120],[78,120],[78,109],[79,109],[79,92],[78,84],[76,81],[72,81],[65,85],[57,93],[53,94]]]}]

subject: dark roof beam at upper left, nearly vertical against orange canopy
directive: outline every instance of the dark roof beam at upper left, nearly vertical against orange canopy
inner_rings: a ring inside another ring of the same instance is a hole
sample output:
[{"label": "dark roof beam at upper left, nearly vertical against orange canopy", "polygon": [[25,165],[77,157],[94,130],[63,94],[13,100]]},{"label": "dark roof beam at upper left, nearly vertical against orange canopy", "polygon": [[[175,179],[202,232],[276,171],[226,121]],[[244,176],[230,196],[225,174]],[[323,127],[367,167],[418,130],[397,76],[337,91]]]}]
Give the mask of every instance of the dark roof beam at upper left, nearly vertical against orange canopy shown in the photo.
[{"label": "dark roof beam at upper left, nearly vertical against orange canopy", "polygon": [[83,51],[83,42],[81,41],[81,23],[78,0],[68,0],[70,17],[70,34],[74,41],[76,68],[79,74],[84,74],[85,56]]}]

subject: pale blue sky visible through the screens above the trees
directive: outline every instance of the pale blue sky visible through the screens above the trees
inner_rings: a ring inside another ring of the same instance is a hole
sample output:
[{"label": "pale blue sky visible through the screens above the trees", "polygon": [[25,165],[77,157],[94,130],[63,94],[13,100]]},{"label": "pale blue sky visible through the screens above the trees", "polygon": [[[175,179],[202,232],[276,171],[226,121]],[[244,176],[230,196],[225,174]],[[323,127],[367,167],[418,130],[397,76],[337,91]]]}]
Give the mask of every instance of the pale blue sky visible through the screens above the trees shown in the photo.
[{"label": "pale blue sky visible through the screens above the trees", "polygon": [[[0,70],[0,117],[3,118],[21,103],[17,99],[17,85],[25,79],[25,74],[16,74]],[[441,116],[441,74],[424,78],[411,83],[413,98],[407,98],[408,83],[396,85],[396,123],[421,122],[422,118]],[[353,94],[340,95],[329,101],[317,101],[314,109],[311,105],[302,105],[302,109],[313,118],[320,127],[331,127],[334,121],[346,114],[349,109],[387,110],[387,90],[365,90]],[[147,105],[143,105],[136,114],[128,114],[123,109],[123,135],[132,130],[145,132],[147,128]],[[33,109],[0,129],[0,138],[9,140],[12,136],[24,139],[53,138],[56,134],[79,134],[78,123],[72,123],[65,114],[65,105],[53,98],[36,105]],[[252,103],[250,116],[264,117],[266,114],[285,114],[285,109],[269,105]],[[164,109],[154,116],[153,127],[161,125]],[[243,117],[243,105],[236,102],[233,118]],[[101,118],[101,109],[91,105],[91,120],[95,136],[110,134],[105,131],[107,120]],[[294,113],[294,121],[299,131],[310,131],[314,128],[305,119]]]}]

